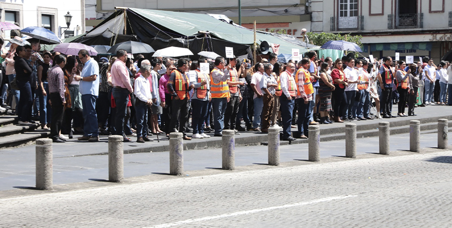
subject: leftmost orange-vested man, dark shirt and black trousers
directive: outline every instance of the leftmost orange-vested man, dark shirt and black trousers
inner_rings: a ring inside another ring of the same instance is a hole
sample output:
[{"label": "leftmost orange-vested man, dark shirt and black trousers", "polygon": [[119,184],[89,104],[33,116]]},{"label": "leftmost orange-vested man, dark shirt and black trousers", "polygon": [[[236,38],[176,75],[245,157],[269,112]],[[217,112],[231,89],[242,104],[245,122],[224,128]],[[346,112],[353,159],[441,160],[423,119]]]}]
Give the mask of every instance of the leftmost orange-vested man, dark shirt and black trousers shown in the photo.
[{"label": "leftmost orange-vested man, dark shirt and black trousers", "polygon": [[168,80],[168,90],[173,96],[171,103],[170,132],[176,132],[176,125],[179,121],[179,132],[183,133],[184,140],[192,140],[186,134],[186,123],[189,120],[190,94],[189,91],[194,88],[190,85],[190,78],[185,73],[189,71],[189,61],[186,58],[180,58],[177,61],[177,69],[173,70]]}]

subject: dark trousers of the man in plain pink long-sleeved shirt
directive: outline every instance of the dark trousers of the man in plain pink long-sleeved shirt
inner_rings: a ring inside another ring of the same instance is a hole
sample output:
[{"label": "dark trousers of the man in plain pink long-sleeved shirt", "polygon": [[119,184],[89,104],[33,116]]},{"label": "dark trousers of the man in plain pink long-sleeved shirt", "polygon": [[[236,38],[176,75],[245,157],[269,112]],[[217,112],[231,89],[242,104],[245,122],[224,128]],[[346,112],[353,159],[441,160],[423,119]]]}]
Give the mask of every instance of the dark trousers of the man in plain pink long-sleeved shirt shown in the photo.
[{"label": "dark trousers of the man in plain pink long-sleeved shirt", "polygon": [[[127,114],[127,103],[129,102],[129,91],[123,88],[113,88],[113,98],[116,103],[115,135],[124,136],[124,117]],[[83,109],[85,107],[83,106]],[[97,126],[97,122],[96,122]]]}]

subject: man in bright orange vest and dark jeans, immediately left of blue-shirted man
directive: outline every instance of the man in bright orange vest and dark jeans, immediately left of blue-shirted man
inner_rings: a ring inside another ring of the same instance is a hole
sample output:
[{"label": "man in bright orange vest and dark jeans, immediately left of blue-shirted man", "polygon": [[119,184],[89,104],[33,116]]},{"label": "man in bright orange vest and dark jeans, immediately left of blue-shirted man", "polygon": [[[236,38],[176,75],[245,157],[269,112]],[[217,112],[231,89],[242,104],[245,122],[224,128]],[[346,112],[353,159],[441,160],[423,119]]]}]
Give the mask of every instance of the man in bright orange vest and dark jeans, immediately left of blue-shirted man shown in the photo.
[{"label": "man in bright orange vest and dark jeans, immediately left of blue-shirted man", "polygon": [[301,61],[301,67],[295,74],[295,81],[297,82],[297,96],[295,102],[298,106],[298,133],[299,138],[308,138],[308,126],[309,118],[311,116],[310,101],[313,99],[314,88],[312,87],[311,79],[313,76],[309,73],[309,66],[311,60],[309,58],[303,58]]}]

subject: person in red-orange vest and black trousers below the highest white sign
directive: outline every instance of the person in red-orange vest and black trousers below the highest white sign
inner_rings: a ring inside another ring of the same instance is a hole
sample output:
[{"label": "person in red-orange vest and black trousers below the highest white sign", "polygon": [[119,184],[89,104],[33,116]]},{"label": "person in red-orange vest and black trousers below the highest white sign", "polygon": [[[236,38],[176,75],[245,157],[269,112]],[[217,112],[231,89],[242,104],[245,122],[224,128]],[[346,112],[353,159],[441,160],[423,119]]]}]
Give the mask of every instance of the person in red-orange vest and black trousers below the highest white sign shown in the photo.
[{"label": "person in red-orange vest and black trousers below the highest white sign", "polygon": [[238,58],[231,58],[229,64],[231,69],[229,70],[229,94],[231,95],[230,100],[226,106],[226,111],[224,113],[224,129],[234,130],[236,135],[240,133],[235,128],[238,108],[240,106],[240,101],[242,100],[242,95],[240,94],[240,86],[244,85],[243,81],[239,81],[239,76],[244,71],[244,65],[240,65],[239,70],[236,70]]}]

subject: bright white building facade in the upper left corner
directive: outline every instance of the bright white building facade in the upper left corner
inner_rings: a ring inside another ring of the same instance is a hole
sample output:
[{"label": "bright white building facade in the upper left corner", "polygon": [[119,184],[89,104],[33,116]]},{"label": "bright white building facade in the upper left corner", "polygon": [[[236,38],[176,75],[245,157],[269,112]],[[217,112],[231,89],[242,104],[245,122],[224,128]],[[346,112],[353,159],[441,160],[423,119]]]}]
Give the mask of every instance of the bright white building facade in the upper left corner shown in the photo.
[{"label": "bright white building facade in the upper left corner", "polygon": [[[18,23],[19,27],[44,27],[64,38],[85,32],[85,3],[81,0],[49,1],[49,0],[1,0],[0,21]],[[71,24],[66,30],[64,15],[72,15]],[[62,34],[63,31],[67,31]],[[2,31],[2,37],[10,39],[10,31]]]}]

